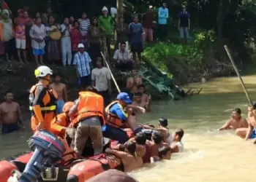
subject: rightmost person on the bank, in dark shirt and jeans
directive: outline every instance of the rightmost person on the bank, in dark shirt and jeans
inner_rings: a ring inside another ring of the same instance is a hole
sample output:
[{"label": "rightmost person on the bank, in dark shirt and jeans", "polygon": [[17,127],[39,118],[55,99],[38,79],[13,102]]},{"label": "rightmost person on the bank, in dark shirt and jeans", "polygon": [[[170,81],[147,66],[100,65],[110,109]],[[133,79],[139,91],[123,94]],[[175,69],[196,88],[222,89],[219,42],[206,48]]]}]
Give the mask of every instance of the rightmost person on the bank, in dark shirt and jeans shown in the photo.
[{"label": "rightmost person on the bank, in dark shirt and jeans", "polygon": [[186,7],[182,6],[182,11],[178,15],[178,31],[182,43],[187,43],[190,30],[190,14]]}]

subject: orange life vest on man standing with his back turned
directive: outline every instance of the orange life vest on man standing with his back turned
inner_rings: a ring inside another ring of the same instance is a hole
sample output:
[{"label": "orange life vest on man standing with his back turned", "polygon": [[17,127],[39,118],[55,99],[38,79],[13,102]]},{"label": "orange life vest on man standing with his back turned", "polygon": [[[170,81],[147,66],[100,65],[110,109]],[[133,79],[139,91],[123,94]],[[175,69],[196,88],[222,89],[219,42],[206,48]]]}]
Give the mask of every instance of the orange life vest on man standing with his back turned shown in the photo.
[{"label": "orange life vest on man standing with his back turned", "polygon": [[104,99],[101,95],[94,92],[79,92],[78,116],[72,120],[72,125],[75,127],[82,119],[91,116],[99,116],[104,120]]}]

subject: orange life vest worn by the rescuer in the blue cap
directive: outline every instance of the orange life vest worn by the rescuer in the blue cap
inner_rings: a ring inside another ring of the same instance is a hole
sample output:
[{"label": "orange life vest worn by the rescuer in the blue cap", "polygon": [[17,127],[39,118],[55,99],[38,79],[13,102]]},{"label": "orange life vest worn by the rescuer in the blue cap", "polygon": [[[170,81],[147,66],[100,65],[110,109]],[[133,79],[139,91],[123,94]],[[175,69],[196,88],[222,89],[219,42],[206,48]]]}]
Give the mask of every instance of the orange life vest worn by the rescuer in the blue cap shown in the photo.
[{"label": "orange life vest worn by the rescuer in the blue cap", "polygon": [[106,119],[106,124],[112,126],[112,127],[123,127],[124,126],[124,122],[121,121],[120,118],[118,118],[118,116],[116,114],[112,114],[110,113],[110,108],[114,105],[118,103],[118,101],[113,101],[112,103],[110,103],[110,105],[108,105],[105,108],[105,112],[107,113],[107,119]]}]

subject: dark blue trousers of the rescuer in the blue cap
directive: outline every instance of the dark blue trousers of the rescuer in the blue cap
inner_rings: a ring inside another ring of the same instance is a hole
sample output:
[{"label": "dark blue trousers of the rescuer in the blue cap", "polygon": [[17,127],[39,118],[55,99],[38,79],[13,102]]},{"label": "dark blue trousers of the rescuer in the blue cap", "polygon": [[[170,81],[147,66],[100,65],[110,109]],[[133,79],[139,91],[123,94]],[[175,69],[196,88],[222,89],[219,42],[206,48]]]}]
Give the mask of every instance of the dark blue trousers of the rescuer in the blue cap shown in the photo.
[{"label": "dark blue trousers of the rescuer in the blue cap", "polygon": [[121,128],[111,127],[108,124],[105,124],[102,127],[102,134],[105,138],[110,138],[111,140],[118,141],[118,143],[125,143],[129,141],[127,132]]}]

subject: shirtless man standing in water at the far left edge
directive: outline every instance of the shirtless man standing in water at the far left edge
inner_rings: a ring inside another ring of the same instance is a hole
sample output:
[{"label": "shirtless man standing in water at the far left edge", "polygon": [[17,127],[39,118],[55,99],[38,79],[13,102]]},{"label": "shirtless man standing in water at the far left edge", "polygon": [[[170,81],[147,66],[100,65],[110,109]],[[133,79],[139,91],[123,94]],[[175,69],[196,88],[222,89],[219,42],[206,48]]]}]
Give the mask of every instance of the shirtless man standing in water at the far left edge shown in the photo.
[{"label": "shirtless man standing in water at the far left edge", "polygon": [[1,133],[14,132],[23,127],[20,105],[13,102],[13,93],[8,91],[5,95],[6,101],[0,105]]}]

